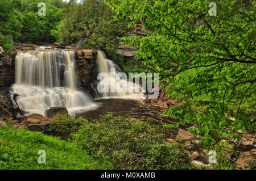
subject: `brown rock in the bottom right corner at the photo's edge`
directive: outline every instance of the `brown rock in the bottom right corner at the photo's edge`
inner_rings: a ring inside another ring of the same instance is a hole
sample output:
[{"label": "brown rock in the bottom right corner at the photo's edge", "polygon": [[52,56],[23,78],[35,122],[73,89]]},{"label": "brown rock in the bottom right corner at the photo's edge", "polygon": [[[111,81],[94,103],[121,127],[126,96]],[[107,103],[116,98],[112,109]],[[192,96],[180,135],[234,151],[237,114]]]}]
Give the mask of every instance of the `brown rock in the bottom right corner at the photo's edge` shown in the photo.
[{"label": "brown rock in the bottom right corner at the photo's edge", "polygon": [[238,169],[249,169],[256,162],[256,149],[243,152],[240,157],[237,159],[237,168]]}]

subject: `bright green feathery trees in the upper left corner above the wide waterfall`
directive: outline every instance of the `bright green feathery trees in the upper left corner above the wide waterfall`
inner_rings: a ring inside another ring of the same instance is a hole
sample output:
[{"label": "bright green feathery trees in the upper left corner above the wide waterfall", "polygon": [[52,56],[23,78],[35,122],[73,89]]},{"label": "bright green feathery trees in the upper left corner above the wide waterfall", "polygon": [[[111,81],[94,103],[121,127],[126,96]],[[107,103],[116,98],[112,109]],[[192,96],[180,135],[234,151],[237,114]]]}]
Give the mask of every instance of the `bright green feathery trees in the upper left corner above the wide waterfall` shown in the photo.
[{"label": "bright green feathery trees in the upper left corner above the wide waterfall", "polygon": [[[39,16],[39,2],[46,3],[46,16]],[[1,0],[0,46],[10,50],[15,42],[54,42],[52,30],[63,18],[66,4],[61,0]]]}]

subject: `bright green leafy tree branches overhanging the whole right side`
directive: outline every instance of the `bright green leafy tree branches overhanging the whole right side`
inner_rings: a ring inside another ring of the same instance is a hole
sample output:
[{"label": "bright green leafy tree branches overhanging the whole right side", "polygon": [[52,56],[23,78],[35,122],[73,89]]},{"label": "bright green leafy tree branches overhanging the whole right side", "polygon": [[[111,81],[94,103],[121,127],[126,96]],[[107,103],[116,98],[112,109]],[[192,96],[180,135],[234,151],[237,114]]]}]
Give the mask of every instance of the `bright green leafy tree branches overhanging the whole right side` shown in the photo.
[{"label": "bright green leafy tree branches overhanging the whole right side", "polygon": [[139,48],[136,57],[159,73],[168,96],[183,101],[167,116],[199,124],[191,132],[204,144],[239,141],[238,129],[255,134],[255,1],[216,1],[217,16],[208,13],[211,1],[105,2],[116,19],[130,19],[130,27],[140,20],[152,30],[123,44]]}]

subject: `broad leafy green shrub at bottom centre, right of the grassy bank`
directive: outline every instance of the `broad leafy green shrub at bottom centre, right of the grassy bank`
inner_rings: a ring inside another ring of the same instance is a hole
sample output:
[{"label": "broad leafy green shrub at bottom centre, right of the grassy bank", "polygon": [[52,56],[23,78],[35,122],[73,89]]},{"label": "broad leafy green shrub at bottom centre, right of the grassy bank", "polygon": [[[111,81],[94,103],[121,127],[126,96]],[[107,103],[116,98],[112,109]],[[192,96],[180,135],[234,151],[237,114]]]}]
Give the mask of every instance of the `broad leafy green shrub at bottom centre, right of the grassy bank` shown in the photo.
[{"label": "broad leafy green shrub at bottom centre, right of the grassy bank", "polygon": [[164,131],[150,120],[113,117],[108,113],[72,134],[73,141],[115,169],[190,169],[181,145],[164,144]]}]

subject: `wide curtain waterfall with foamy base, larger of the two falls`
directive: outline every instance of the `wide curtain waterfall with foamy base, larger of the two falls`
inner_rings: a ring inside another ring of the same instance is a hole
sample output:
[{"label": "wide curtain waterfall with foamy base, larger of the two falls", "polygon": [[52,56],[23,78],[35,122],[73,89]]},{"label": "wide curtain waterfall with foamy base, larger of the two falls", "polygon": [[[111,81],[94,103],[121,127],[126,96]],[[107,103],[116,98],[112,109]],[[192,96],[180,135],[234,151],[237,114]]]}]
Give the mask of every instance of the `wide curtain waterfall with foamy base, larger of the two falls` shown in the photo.
[{"label": "wide curtain waterfall with foamy base, larger of the two falls", "polygon": [[66,107],[72,116],[98,107],[90,95],[77,89],[74,51],[19,52],[10,93],[20,94],[17,102],[22,110],[41,115],[51,107]]}]

